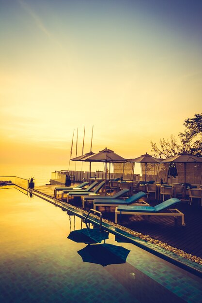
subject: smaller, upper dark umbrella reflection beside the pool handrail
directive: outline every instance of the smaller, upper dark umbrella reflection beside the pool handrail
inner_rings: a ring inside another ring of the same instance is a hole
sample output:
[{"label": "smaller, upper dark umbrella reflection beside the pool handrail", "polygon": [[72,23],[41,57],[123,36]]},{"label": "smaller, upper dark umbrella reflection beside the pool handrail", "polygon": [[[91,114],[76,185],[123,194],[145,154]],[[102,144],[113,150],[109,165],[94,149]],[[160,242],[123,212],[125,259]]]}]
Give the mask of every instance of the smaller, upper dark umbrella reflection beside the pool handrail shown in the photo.
[{"label": "smaller, upper dark umbrella reflection beside the pool handrail", "polygon": [[82,228],[71,231],[67,238],[77,243],[94,244],[109,239],[109,232],[98,228]]}]

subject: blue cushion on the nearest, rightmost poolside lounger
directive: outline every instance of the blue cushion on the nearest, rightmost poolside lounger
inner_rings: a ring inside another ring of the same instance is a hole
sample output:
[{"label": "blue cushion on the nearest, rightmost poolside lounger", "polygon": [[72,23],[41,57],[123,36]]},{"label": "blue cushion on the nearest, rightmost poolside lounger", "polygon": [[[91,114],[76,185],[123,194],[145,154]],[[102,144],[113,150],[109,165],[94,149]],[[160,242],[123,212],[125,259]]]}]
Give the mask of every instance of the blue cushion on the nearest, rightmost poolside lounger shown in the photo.
[{"label": "blue cushion on the nearest, rightmost poolside lounger", "polygon": [[117,211],[119,212],[160,212],[162,210],[168,209],[169,207],[171,207],[174,204],[178,204],[181,201],[177,198],[171,198],[168,199],[158,205],[156,205],[155,207],[152,206],[123,206],[120,205],[117,207]]}]

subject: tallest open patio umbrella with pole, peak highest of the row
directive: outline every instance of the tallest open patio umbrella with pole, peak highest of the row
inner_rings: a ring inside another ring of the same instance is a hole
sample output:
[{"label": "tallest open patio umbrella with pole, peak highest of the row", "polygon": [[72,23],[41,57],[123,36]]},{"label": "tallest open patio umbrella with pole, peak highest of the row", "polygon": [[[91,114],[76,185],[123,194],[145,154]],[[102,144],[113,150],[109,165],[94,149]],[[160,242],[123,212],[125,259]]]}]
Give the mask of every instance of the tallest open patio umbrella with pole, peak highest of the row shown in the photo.
[{"label": "tallest open patio umbrella with pole, peak highest of the row", "polygon": [[92,156],[87,157],[84,161],[89,162],[104,162],[105,163],[105,195],[106,195],[106,184],[107,184],[107,163],[113,163],[113,162],[126,162],[126,159],[119,156],[117,153],[107,149],[107,147]]}]

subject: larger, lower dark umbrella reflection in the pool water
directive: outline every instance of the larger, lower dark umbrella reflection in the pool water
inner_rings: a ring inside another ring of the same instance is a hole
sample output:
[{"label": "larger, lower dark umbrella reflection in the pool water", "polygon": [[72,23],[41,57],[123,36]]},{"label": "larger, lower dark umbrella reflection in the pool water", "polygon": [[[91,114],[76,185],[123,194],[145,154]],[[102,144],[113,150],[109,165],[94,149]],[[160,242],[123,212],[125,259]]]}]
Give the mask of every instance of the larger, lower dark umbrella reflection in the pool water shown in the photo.
[{"label": "larger, lower dark umbrella reflection in the pool water", "polygon": [[123,264],[130,250],[123,246],[116,246],[112,244],[93,244],[87,245],[78,251],[83,262],[100,264],[107,266],[110,264]]}]

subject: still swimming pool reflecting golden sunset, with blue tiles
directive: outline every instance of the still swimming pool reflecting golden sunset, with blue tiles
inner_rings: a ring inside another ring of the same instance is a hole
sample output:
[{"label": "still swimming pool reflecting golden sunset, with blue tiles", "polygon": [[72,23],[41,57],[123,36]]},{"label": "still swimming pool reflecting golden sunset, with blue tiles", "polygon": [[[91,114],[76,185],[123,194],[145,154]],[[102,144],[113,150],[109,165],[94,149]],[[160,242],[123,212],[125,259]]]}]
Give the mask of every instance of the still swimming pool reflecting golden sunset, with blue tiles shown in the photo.
[{"label": "still swimming pool reflecting golden sunset, with blue tiles", "polygon": [[125,263],[83,262],[88,244],[67,237],[85,224],[39,197],[0,190],[0,208],[2,302],[202,302],[201,278],[112,234]]}]

